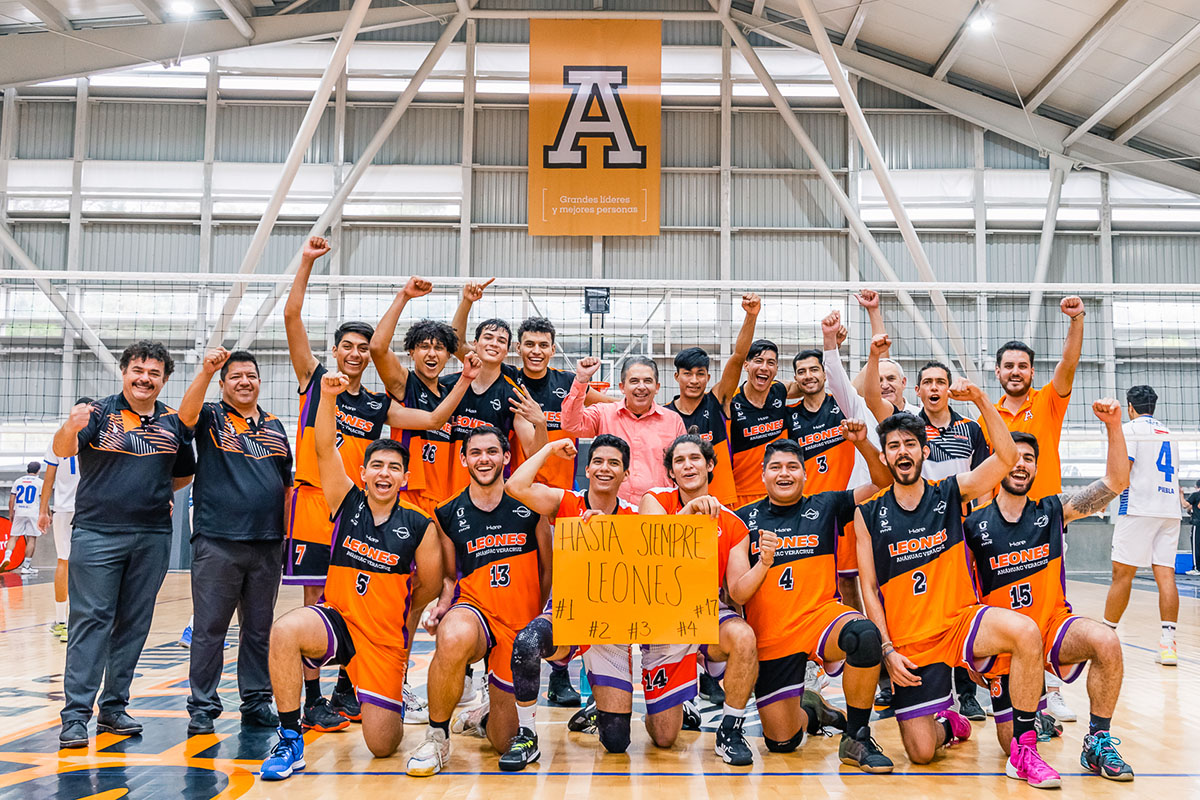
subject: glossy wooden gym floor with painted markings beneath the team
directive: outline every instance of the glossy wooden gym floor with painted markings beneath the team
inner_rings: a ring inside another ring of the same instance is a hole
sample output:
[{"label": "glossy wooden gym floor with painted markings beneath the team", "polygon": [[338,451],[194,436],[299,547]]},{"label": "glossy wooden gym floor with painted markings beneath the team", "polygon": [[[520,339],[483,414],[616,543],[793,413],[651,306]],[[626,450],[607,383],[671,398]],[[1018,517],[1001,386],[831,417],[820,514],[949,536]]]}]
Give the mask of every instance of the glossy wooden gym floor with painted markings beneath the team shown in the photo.
[{"label": "glossy wooden gym floor with painted markings beneath the team", "polygon": [[[106,734],[86,751],[59,751],[59,710],[62,702],[65,646],[47,632],[53,618],[53,593],[42,570],[29,585],[16,575],[0,576],[0,800],[130,800],[144,798],[520,798],[666,796],[688,798],[779,796],[972,796],[994,798],[1038,794],[1004,777],[1004,763],[991,722],[974,723],[968,742],[952,748],[929,766],[914,768],[904,758],[896,724],[874,723],[876,739],[896,762],[892,776],[864,775],[842,768],[838,740],[812,738],[803,752],[779,756],[766,752],[756,724],[748,726],[756,763],[750,770],[728,768],[713,754],[713,733],[719,710],[709,706],[706,732],[684,733],[670,751],[653,748],[635,712],[634,744],[628,756],[602,754],[594,736],[570,734],[569,710],[539,710],[541,760],[521,774],[502,774],[496,753],[480,739],[454,738],[448,772],[433,778],[404,775],[406,753],[424,736],[421,726],[409,726],[401,752],[373,759],[354,726],[334,734],[308,734],[307,770],[282,783],[257,780],[258,764],[275,739],[269,730],[242,732],[236,717],[233,676],[236,649],[227,650],[226,716],[217,733],[186,735],[187,650],[176,640],[191,613],[188,577],[169,575],[158,596],[154,628],[133,684],[131,712],[145,724],[139,738]],[[1105,587],[1072,582],[1075,609],[1099,616]],[[1181,593],[1182,594],[1182,593]],[[1158,637],[1157,597],[1135,590],[1122,622],[1126,680],[1114,720],[1121,752],[1138,774],[1132,784],[1117,784],[1084,772],[1080,742],[1087,729],[1084,680],[1067,686],[1064,694],[1080,721],[1068,723],[1063,738],[1042,745],[1046,759],[1063,774],[1063,792],[1087,793],[1090,800],[1133,798],[1200,798],[1200,600],[1195,593],[1181,599],[1178,644],[1181,664],[1154,663]],[[299,591],[284,589],[278,609],[299,604]],[[422,634],[424,637],[424,634]],[[419,638],[414,648],[413,682],[424,693],[424,676],[432,643]],[[578,662],[572,664],[572,673]],[[324,680],[326,687],[331,678]],[[827,694],[841,703],[840,690]],[[228,709],[233,709],[232,714]],[[751,716],[754,721],[754,716]]]}]

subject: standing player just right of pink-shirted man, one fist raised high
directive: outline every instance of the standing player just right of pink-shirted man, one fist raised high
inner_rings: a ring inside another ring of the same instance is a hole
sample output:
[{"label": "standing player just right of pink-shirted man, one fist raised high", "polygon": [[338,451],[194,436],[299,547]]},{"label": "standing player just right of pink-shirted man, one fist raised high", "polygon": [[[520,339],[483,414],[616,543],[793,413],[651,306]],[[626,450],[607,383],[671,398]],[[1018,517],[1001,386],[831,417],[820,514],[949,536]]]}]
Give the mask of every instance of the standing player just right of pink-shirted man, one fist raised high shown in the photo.
[{"label": "standing player just right of pink-shirted man, one fist raised high", "polygon": [[738,489],[733,479],[728,420],[725,410],[738,389],[738,378],[742,377],[742,366],[754,342],[754,329],[761,308],[762,300],[758,295],[742,295],[742,309],[746,315],[733,343],[733,353],[721,369],[721,379],[713,389],[708,387],[712,377],[708,367],[712,360],[703,348],[686,348],[676,354],[676,384],[679,385],[679,395],[667,403],[668,409],[683,417],[683,426],[688,431],[695,428],[702,439],[713,443],[716,468],[713,470],[713,483],[709,488],[714,498],[731,507],[737,503]]}]

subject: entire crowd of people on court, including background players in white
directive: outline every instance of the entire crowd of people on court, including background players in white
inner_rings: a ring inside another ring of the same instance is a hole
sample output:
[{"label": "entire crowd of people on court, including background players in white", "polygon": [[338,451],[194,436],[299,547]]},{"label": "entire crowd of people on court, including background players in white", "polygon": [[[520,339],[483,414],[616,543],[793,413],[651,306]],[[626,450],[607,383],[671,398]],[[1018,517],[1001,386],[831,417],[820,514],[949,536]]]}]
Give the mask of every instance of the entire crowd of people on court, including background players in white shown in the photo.
[{"label": "entire crowd of people on court, including background players in white", "polygon": [[[1079,764],[1133,780],[1112,728],[1116,628],[1136,570],[1153,567],[1156,661],[1177,664],[1187,503],[1148,385],[1075,398],[1091,404],[1106,461],[1099,480],[1063,491],[1080,297],[1061,300],[1069,325],[1052,374],[1034,374],[1026,343],[997,343],[988,391],[936,360],[906,374],[889,357],[875,290],[851,300],[871,327],[854,377],[839,311],[810,349],[782,353],[756,337],[762,301],[748,293],[720,374],[703,349],[679,350],[679,393],[664,405],[650,357],[624,357],[619,391],[607,392],[594,380],[599,357],[551,366],[554,321],[530,317],[514,331],[472,320],[492,281],[463,287],[449,321],[403,320],[434,289],[408,278],[382,319],[342,321],[318,355],[304,302],[329,252],[325,239],[307,240],[283,311],[294,439],[258,404],[253,353],[206,350],[169,408],[158,396],[174,360],[142,339],[120,356],[120,391],[78,398],[44,462],[13,487],[0,569],[20,560],[17,547],[30,569],[50,529],[60,559],[60,747],[86,748],[94,714],[97,735],[143,730],[130,687],[168,569],[175,492],[191,483],[187,733],[214,733],[224,710],[217,687],[236,610],[241,724],[278,733],[263,781],[304,770],[306,746],[336,746],[319,735],[306,745],[306,732],[352,723],[374,757],[406,759],[409,776],[452,770],[451,734],[486,738],[500,770],[524,770],[541,754],[542,662],[551,703],[578,708],[566,727],[582,738],[569,746],[611,754],[613,769],[629,764],[637,736],[671,750],[682,730],[700,730],[703,696],[720,708],[713,752],[732,766],[755,763],[748,705],[767,752],[839,736],[841,764],[881,774],[898,757],[953,759],[972,722],[991,715],[997,766],[1043,789],[1074,769],[1048,763],[1038,742],[1075,718],[1058,690],[1086,673]],[[514,350],[520,367],[506,363]],[[220,398],[205,402],[214,378]],[[1104,618],[1079,616],[1064,531],[1118,498]],[[302,607],[276,614],[281,583],[302,587]],[[426,697],[408,681],[420,628],[434,643]],[[568,672],[576,657],[582,700]],[[326,666],[337,668],[328,693]],[[480,666],[482,703],[456,712]],[[820,691],[830,678],[845,711]],[[872,736],[892,717],[902,754]],[[412,745],[406,724],[420,726]]]}]

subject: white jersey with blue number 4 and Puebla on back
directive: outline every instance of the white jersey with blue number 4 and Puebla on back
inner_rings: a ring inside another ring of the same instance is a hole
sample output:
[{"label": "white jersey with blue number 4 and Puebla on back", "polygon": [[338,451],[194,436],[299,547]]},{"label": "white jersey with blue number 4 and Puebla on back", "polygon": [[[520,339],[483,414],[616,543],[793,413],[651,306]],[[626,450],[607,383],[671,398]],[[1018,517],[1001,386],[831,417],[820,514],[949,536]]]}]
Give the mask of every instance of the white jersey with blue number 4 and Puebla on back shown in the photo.
[{"label": "white jersey with blue number 4 and Puebla on back", "polygon": [[[1166,426],[1146,414],[1126,422],[1129,444],[1129,488],[1121,493],[1117,513],[1130,517],[1180,516],[1180,450],[1166,437]],[[1141,438],[1144,441],[1135,441]]]}]

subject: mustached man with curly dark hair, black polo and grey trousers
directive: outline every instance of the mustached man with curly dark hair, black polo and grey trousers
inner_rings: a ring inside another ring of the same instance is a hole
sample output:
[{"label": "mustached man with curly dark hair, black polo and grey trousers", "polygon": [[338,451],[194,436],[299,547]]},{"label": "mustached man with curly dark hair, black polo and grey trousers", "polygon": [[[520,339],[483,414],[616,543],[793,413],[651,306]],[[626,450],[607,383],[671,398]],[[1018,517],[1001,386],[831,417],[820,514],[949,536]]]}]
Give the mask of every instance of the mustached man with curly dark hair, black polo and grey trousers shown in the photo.
[{"label": "mustached man with curly dark hair, black polo and grey trousers", "polygon": [[79,403],[54,434],[55,456],[79,456],[62,747],[88,746],[101,676],[97,733],[142,733],[125,711],[130,684],[167,575],[172,498],[194,465],[190,431],[158,402],[174,366],[161,343],[134,342],[121,354],[121,392]]}]

